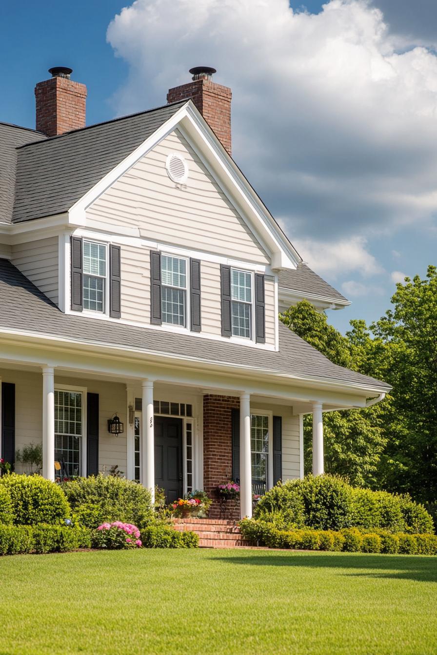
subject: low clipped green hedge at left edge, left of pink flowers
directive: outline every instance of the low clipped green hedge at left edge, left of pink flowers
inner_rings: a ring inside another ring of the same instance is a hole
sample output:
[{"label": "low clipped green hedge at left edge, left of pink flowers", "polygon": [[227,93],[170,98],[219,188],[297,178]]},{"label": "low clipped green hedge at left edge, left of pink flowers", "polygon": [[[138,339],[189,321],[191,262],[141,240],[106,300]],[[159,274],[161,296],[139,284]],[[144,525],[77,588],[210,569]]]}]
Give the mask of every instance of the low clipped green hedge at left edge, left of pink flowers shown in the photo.
[{"label": "low clipped green hedge at left edge, left of pink flowers", "polygon": [[0,555],[63,553],[90,548],[90,531],[65,525],[0,525]]}]

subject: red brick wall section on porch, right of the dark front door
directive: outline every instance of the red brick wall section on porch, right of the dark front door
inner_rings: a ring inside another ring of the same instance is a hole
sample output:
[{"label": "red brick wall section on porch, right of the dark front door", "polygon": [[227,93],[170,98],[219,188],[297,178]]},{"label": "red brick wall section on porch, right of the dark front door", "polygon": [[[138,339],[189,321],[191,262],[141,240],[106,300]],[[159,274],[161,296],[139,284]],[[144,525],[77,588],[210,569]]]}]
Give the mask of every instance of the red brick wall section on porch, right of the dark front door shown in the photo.
[{"label": "red brick wall section on porch, right of the dark front door", "polygon": [[[219,517],[220,504],[216,487],[232,477],[231,410],[240,408],[234,396],[203,397],[203,488],[214,502],[209,516]],[[239,519],[239,502],[227,501],[225,518]]]}]

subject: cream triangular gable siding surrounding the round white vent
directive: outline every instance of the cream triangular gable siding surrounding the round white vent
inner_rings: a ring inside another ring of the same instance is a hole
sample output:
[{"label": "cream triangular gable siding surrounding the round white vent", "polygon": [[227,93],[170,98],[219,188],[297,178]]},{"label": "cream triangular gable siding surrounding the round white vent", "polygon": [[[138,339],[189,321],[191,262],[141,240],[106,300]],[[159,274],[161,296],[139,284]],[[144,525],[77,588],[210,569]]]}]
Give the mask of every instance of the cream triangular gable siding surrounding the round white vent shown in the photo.
[{"label": "cream triangular gable siding surrounding the round white vent", "polygon": [[[185,184],[166,172],[170,153],[189,166]],[[156,145],[87,210],[93,219],[134,227],[144,238],[254,263],[269,259],[235,208],[177,130]]]}]

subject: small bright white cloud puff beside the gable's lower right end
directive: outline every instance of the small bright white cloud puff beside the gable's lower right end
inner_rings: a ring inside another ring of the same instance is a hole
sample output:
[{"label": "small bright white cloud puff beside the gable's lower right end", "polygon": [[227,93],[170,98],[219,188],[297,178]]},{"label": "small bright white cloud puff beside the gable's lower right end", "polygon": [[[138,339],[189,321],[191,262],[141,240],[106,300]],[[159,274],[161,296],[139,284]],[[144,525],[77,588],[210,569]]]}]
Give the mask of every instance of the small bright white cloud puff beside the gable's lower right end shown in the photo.
[{"label": "small bright white cloud puff beside the gable's lower right end", "polygon": [[295,239],[294,244],[314,271],[331,278],[352,271],[367,277],[384,270],[375,257],[366,250],[366,240],[362,236],[335,242]]}]

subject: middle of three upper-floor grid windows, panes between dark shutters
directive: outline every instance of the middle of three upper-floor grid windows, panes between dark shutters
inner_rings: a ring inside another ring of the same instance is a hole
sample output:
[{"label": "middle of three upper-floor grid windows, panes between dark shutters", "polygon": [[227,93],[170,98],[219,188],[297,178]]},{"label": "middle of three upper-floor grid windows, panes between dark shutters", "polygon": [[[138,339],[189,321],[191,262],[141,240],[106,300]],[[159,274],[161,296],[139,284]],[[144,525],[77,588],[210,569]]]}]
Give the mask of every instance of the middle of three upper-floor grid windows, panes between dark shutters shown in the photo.
[{"label": "middle of three upper-floor grid windows, panes between dark shutters", "polygon": [[186,325],[187,260],[161,255],[162,322]]}]

